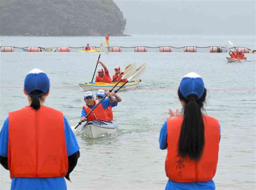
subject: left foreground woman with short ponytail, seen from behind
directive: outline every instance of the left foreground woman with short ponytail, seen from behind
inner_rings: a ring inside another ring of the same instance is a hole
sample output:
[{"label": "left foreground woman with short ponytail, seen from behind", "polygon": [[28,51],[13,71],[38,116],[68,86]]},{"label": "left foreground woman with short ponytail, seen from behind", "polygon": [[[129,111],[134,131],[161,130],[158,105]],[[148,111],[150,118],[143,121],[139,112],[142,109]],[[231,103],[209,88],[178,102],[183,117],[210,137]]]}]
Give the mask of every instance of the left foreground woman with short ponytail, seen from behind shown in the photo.
[{"label": "left foreground woman with short ponytail, seen from behind", "polygon": [[0,132],[0,162],[10,170],[11,189],[67,189],[65,178],[80,155],[75,135],[63,114],[44,106],[47,75],[33,69],[24,81],[28,106],[9,113]]}]

